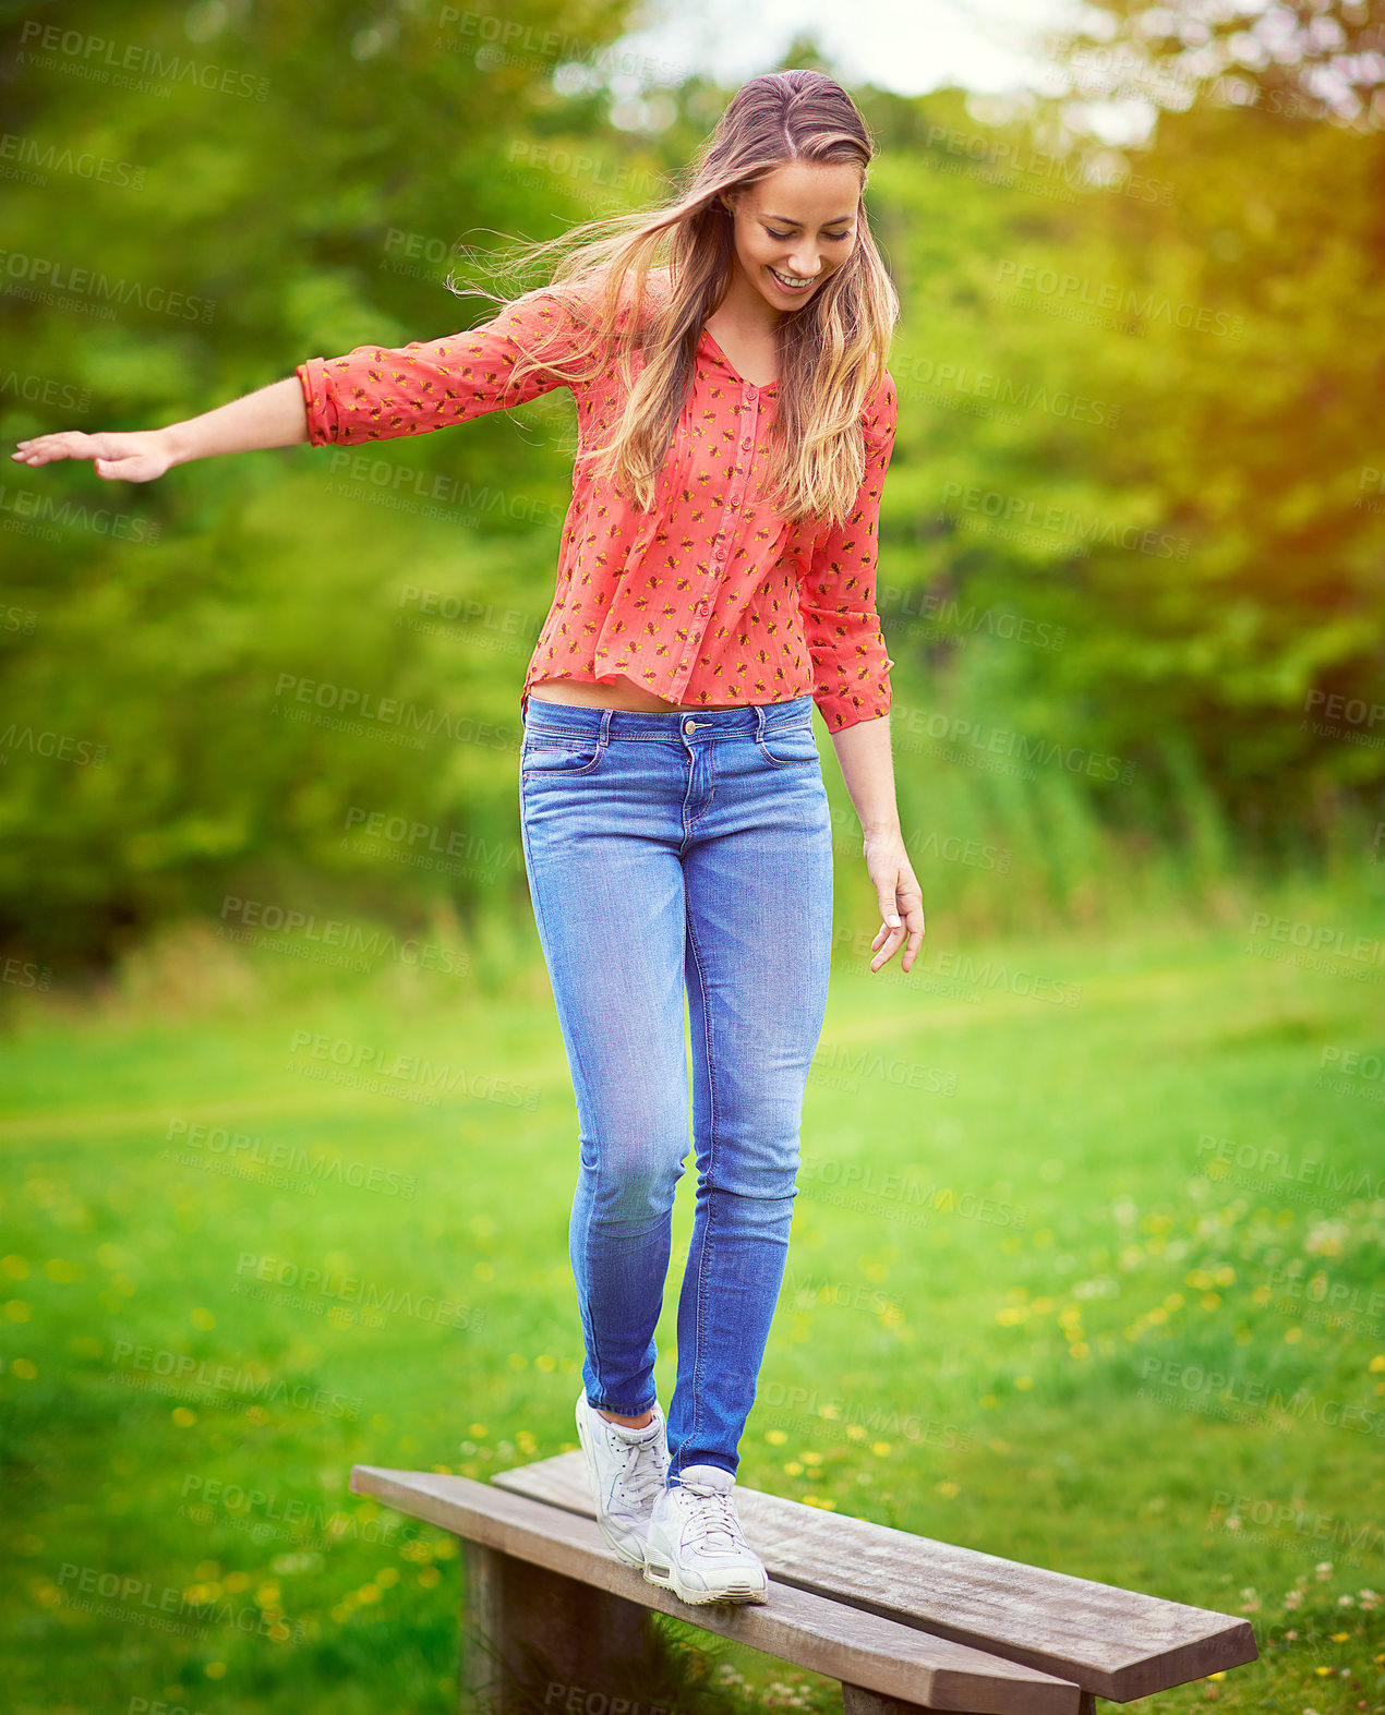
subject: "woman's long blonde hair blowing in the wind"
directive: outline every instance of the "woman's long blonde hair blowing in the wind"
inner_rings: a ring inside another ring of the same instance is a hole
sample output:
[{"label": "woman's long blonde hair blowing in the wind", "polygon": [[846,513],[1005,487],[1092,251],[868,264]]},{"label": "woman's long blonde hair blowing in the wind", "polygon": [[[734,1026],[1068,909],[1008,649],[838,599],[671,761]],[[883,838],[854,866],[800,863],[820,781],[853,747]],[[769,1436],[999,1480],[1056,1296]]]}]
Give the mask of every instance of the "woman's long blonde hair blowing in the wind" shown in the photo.
[{"label": "woman's long blonde hair blowing in the wind", "polygon": [[[580,449],[577,461],[647,511],[692,384],[702,328],[731,283],[735,226],[723,194],[789,161],[856,166],[863,192],[874,154],[855,101],[822,72],[769,72],[743,84],[669,201],[510,249],[511,269],[558,252],[549,283],[522,297],[558,297],[589,334],[572,348],[568,329],[561,362],[522,348],[510,384],[541,367],[563,381],[590,381],[613,369],[623,410],[609,441]],[[656,268],[668,274],[662,292],[649,290]],[[448,286],[458,290],[451,276]],[[862,410],[886,372],[898,319],[899,297],[862,197],[850,256],[776,326],[777,412],[765,489],[791,521],[841,525],[850,516],[865,475]]]}]

